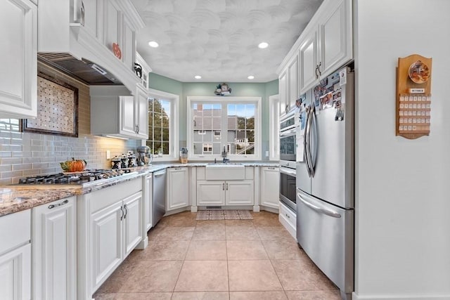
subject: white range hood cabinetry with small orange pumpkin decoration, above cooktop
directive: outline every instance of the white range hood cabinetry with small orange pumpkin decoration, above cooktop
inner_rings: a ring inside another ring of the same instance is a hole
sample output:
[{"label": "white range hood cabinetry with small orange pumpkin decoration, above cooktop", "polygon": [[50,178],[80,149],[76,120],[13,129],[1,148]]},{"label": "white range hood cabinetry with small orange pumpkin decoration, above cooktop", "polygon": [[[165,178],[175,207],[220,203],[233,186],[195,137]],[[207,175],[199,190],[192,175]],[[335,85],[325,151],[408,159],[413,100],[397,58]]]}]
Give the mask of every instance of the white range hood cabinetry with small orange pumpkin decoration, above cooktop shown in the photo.
[{"label": "white range hood cabinetry with small orange pumpkin decoration, above cooktop", "polygon": [[130,0],[40,2],[39,52],[68,53],[89,60],[134,93],[139,82],[134,72],[135,32],[144,27],[144,22]]}]

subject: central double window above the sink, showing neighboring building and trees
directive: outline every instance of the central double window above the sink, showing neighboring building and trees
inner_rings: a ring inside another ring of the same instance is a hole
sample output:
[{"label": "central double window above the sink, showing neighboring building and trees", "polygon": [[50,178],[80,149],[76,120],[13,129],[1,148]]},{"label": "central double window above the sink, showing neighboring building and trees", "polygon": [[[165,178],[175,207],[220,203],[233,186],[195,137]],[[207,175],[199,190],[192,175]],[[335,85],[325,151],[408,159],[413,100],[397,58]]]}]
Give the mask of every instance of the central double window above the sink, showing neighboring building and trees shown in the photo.
[{"label": "central double window above the sink, showing neighboring building and trees", "polygon": [[225,150],[234,159],[261,159],[261,98],[188,97],[188,105],[191,157],[216,158]]}]

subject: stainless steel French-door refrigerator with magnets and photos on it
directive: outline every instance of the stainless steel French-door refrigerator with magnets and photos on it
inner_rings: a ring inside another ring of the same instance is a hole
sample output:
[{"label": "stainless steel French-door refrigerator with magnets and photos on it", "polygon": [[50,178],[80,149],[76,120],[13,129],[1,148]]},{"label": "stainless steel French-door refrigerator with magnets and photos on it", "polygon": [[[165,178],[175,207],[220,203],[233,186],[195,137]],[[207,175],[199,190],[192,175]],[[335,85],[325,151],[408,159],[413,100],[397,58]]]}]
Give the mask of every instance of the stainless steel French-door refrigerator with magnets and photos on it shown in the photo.
[{"label": "stainless steel French-door refrigerator with magnets and photos on it", "polygon": [[304,97],[297,161],[297,242],[342,299],[354,290],[354,74],[331,74]]}]

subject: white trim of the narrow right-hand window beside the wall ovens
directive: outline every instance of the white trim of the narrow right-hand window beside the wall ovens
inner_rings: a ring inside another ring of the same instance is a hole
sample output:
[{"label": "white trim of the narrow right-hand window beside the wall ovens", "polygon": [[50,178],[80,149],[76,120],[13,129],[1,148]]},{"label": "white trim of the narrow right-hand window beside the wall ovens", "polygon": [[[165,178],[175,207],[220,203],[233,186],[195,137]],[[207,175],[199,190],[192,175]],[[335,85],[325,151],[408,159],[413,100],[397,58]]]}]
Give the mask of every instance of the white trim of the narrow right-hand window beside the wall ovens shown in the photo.
[{"label": "white trim of the narrow right-hand window beside the wall ovens", "polygon": [[280,96],[269,96],[269,160],[280,160]]}]

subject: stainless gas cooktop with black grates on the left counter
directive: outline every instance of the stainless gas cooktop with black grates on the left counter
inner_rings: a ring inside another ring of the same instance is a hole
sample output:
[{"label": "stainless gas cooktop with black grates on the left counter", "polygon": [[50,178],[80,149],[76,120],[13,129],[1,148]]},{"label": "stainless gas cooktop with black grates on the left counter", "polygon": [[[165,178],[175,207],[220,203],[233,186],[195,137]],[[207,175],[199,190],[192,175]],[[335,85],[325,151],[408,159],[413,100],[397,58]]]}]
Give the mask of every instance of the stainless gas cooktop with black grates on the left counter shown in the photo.
[{"label": "stainless gas cooktop with black grates on the left counter", "polygon": [[39,174],[20,178],[18,185],[90,185],[103,183],[111,178],[135,175],[129,169],[93,169],[81,172]]}]

